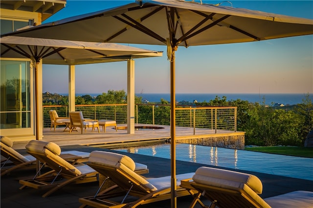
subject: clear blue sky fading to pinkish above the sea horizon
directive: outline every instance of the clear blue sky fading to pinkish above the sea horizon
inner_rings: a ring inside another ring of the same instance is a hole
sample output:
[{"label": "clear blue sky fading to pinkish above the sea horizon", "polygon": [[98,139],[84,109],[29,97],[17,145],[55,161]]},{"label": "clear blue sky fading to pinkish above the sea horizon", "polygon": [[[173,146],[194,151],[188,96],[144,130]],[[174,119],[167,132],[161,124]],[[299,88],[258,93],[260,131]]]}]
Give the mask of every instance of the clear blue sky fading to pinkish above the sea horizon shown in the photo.
[{"label": "clear blue sky fading to pinkish above the sea horizon", "polygon": [[[221,0],[222,1],[222,0]],[[204,1],[219,3],[221,1]],[[120,6],[128,0],[67,0],[44,23]],[[313,19],[313,1],[232,0],[233,7]],[[229,2],[223,2],[230,6]],[[132,45],[138,47],[138,45]],[[170,64],[163,57],[135,60],[135,93],[169,93]],[[43,66],[43,92],[68,92],[68,67]],[[78,65],[76,93],[127,91],[127,63]],[[58,83],[58,84],[56,84]],[[84,84],[82,84],[84,83]],[[176,93],[313,93],[313,35],[253,43],[179,47]]]}]

